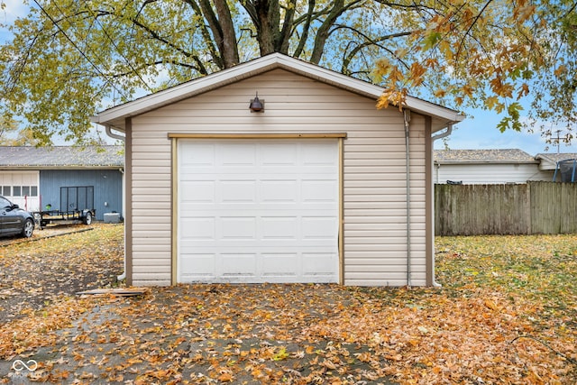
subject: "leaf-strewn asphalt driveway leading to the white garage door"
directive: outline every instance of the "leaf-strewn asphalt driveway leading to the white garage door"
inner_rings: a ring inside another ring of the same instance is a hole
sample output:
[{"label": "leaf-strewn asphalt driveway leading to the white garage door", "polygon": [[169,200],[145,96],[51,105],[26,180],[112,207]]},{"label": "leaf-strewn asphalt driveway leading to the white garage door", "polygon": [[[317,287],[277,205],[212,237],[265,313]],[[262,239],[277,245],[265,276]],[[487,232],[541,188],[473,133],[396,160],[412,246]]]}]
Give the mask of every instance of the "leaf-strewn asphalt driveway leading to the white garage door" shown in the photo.
[{"label": "leaf-strewn asphalt driveway leading to the white garage door", "polygon": [[95,307],[54,344],[0,372],[22,378],[11,366],[20,359],[52,383],[393,383],[382,352],[311,328],[358,302],[333,285],[179,286],[85,300]]}]

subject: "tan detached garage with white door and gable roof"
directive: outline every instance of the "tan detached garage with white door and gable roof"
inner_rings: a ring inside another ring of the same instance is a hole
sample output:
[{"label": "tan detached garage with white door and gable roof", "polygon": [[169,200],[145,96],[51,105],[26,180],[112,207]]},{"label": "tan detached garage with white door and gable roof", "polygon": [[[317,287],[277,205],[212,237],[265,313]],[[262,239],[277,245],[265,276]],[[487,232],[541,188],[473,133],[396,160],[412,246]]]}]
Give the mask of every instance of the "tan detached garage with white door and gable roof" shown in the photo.
[{"label": "tan detached garage with white door and gable roof", "polygon": [[433,135],[463,116],[382,92],[276,53],[93,117],[126,136],[128,284],[434,285]]}]

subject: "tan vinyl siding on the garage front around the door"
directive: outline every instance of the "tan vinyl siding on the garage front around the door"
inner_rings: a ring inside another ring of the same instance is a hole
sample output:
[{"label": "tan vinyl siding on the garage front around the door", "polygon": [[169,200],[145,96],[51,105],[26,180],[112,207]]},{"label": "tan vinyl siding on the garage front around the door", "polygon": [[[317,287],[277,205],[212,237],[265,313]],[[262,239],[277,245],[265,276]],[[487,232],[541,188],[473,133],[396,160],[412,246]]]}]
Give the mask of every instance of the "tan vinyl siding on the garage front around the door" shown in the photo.
[{"label": "tan vinyl siding on the garage front around the door", "polygon": [[[248,109],[257,91],[263,114]],[[132,118],[133,285],[171,283],[168,133],[347,133],[344,283],[407,284],[402,114],[396,108],[377,110],[375,100],[276,69]],[[425,119],[412,115],[413,285],[426,285],[425,139]]]}]

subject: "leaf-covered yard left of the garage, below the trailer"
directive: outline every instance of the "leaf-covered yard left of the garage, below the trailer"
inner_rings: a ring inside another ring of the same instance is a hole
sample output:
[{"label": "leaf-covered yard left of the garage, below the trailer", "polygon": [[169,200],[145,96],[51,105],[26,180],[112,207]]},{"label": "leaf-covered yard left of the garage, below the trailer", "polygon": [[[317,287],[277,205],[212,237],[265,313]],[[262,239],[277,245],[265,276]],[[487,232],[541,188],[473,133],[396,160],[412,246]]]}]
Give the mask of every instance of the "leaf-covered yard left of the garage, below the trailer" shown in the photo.
[{"label": "leaf-covered yard left of the garage, below the trailer", "polygon": [[0,238],[0,322],[111,285],[123,267],[123,234],[122,226],[67,225],[37,228],[31,240]]}]

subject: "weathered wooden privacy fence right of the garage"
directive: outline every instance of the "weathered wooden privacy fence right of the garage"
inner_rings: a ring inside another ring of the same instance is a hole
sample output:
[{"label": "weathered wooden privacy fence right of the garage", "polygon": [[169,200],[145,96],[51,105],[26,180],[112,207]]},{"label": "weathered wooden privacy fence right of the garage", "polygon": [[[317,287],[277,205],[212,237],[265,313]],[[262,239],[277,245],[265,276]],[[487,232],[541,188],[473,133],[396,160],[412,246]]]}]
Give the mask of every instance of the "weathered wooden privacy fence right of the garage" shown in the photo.
[{"label": "weathered wooden privacy fence right of the garage", "polygon": [[435,185],[435,235],[577,233],[577,183]]}]

